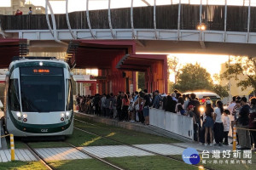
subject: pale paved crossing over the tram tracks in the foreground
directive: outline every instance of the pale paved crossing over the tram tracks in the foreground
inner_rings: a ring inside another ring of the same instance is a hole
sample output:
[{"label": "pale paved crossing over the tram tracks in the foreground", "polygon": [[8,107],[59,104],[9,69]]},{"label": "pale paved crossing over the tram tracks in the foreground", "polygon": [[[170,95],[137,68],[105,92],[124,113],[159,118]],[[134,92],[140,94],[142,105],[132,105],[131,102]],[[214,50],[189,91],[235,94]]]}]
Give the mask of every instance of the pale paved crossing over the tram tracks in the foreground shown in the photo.
[{"label": "pale paved crossing over the tram tracks in the foreground", "polygon": [[[230,146],[204,146],[201,144],[191,143],[175,143],[175,144],[135,144],[135,146],[154,151],[162,155],[182,155],[183,150],[192,147],[198,150],[200,153],[202,150],[232,150]],[[124,157],[124,156],[153,156],[154,154],[147,151],[138,150],[125,145],[107,145],[107,146],[87,146],[81,147],[82,150],[86,150],[95,156],[105,157]],[[35,149],[38,153],[44,157],[45,161],[61,161],[61,160],[76,160],[76,159],[90,159],[90,156],[86,156],[79,150],[75,150],[71,147],[62,148],[40,148]],[[29,150],[16,149],[15,160],[20,161],[36,161],[37,159],[32,156]],[[10,161],[10,150],[0,150],[0,162]]]}]

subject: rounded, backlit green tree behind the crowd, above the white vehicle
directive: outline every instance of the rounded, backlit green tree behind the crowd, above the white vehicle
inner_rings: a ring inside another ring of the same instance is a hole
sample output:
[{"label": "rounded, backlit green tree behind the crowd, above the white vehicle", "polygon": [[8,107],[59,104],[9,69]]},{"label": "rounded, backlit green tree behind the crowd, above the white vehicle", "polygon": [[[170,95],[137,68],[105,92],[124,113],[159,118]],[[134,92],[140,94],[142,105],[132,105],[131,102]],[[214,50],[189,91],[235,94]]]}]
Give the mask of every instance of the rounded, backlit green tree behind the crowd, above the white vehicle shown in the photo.
[{"label": "rounded, backlit green tree behind the crowd, above the white vehicle", "polygon": [[212,90],[212,77],[198,63],[184,65],[177,77],[175,88],[182,92],[195,90]]}]

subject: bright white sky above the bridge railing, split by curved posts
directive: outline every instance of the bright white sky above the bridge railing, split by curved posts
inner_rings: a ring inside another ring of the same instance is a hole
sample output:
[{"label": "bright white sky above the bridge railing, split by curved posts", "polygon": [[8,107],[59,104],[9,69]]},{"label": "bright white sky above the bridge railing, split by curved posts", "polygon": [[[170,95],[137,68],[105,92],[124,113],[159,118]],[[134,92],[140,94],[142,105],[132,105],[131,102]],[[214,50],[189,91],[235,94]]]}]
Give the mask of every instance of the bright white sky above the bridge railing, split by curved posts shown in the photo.
[{"label": "bright white sky above the bridge railing, split by curved posts", "polygon": [[[45,0],[26,0],[26,3],[33,3],[38,6],[45,6]],[[65,12],[65,0],[49,0],[52,8],[57,13]],[[69,11],[85,10],[86,0],[69,0]],[[147,0],[150,5],[154,5],[154,0]],[[170,3],[178,3],[179,0],[156,0],[156,5],[166,5]],[[181,3],[200,4],[201,0],[181,0]],[[202,0],[202,4],[222,4],[224,5],[225,0]],[[228,5],[248,5],[249,0],[227,0]],[[79,4],[79,5],[78,5]],[[147,6],[142,0],[134,0],[134,7]],[[0,7],[10,6],[10,0],[0,0]],[[256,6],[256,0],[251,0],[251,6]],[[125,8],[131,7],[131,0],[111,0],[111,8]],[[89,9],[101,9],[108,8],[108,0],[89,0]]]}]

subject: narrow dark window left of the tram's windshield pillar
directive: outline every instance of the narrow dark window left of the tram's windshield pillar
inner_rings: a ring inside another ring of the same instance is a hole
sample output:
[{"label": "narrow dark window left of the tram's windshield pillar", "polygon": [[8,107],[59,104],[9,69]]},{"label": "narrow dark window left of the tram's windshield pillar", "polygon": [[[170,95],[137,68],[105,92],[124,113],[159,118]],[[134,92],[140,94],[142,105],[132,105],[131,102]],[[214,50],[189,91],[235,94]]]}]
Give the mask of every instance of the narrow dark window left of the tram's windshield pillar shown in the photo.
[{"label": "narrow dark window left of the tram's windshield pillar", "polygon": [[20,111],[18,79],[9,80],[9,110]]}]

